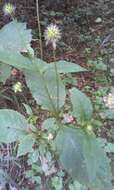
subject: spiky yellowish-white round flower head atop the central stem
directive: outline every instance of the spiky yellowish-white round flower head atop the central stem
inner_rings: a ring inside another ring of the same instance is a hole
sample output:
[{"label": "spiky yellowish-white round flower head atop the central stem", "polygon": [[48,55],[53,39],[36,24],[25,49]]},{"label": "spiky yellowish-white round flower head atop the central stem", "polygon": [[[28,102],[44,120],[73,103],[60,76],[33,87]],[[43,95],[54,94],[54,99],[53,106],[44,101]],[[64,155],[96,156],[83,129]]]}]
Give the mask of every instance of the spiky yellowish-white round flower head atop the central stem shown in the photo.
[{"label": "spiky yellowish-white round flower head atop the central stem", "polygon": [[44,37],[46,40],[46,45],[51,43],[53,48],[56,49],[57,42],[61,39],[61,32],[58,26],[55,24],[50,24],[44,32]]}]

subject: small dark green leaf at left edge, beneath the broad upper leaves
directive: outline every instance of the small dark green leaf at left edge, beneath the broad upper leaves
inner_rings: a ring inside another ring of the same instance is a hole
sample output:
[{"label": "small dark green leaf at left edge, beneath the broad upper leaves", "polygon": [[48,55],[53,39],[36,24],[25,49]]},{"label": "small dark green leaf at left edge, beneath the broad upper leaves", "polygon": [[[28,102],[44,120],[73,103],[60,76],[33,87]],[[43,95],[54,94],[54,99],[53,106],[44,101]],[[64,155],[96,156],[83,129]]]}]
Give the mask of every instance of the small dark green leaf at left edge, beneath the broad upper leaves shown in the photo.
[{"label": "small dark green leaf at left edge, beneath the broad upper leaves", "polygon": [[4,65],[3,63],[0,63],[0,82],[5,83],[6,79],[11,74],[11,67],[9,65]]}]

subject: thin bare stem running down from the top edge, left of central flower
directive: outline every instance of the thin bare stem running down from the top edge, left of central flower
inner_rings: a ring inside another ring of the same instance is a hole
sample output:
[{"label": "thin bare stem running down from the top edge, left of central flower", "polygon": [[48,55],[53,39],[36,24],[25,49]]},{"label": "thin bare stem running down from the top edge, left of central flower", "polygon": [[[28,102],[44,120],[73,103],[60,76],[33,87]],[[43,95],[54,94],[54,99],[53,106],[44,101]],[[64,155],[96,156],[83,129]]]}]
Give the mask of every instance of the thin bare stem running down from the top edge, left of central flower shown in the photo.
[{"label": "thin bare stem running down from the top edge, left of central flower", "polygon": [[39,0],[36,0],[36,13],[37,13],[37,23],[38,23],[38,31],[39,31],[39,38],[40,38],[40,57],[41,59],[43,59],[42,33],[41,33],[40,14],[39,14]]}]

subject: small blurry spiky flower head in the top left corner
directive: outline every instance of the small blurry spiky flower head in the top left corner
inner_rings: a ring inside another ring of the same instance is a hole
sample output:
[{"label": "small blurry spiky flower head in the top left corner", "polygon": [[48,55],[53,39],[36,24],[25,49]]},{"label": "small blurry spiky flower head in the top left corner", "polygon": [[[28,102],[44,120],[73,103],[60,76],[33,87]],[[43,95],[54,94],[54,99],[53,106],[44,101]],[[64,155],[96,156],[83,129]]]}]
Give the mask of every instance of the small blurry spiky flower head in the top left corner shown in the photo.
[{"label": "small blurry spiky flower head in the top left corner", "polygon": [[11,3],[6,3],[3,7],[5,15],[12,15],[15,12],[15,7]]}]

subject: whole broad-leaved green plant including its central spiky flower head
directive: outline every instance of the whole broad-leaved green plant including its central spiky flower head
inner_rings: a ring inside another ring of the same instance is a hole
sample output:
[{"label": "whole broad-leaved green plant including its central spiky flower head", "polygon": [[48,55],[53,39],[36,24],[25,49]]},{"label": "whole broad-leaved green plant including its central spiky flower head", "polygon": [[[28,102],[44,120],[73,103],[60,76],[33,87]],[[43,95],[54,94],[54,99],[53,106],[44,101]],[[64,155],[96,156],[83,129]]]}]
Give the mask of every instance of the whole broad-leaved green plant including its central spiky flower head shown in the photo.
[{"label": "whole broad-leaved green plant including its central spiky flower head", "polygon": [[[108,142],[97,138],[94,132],[90,98],[71,87],[67,89],[70,106],[67,113],[64,110],[67,94],[61,76],[88,71],[72,62],[56,61],[55,51],[61,39],[56,25],[49,25],[44,36],[46,44],[50,43],[53,48],[54,61],[49,64],[35,57],[30,46],[31,30],[25,23],[13,19],[0,30],[0,61],[24,73],[36,103],[49,113],[41,126],[36,127],[36,122],[28,122],[15,110],[0,109],[0,142],[16,143],[16,158],[26,155],[29,169],[25,175],[37,189],[71,189],[74,186],[112,190],[110,159],[105,149]],[[14,91],[23,93],[19,82]],[[64,182],[67,178],[70,185]]]}]

